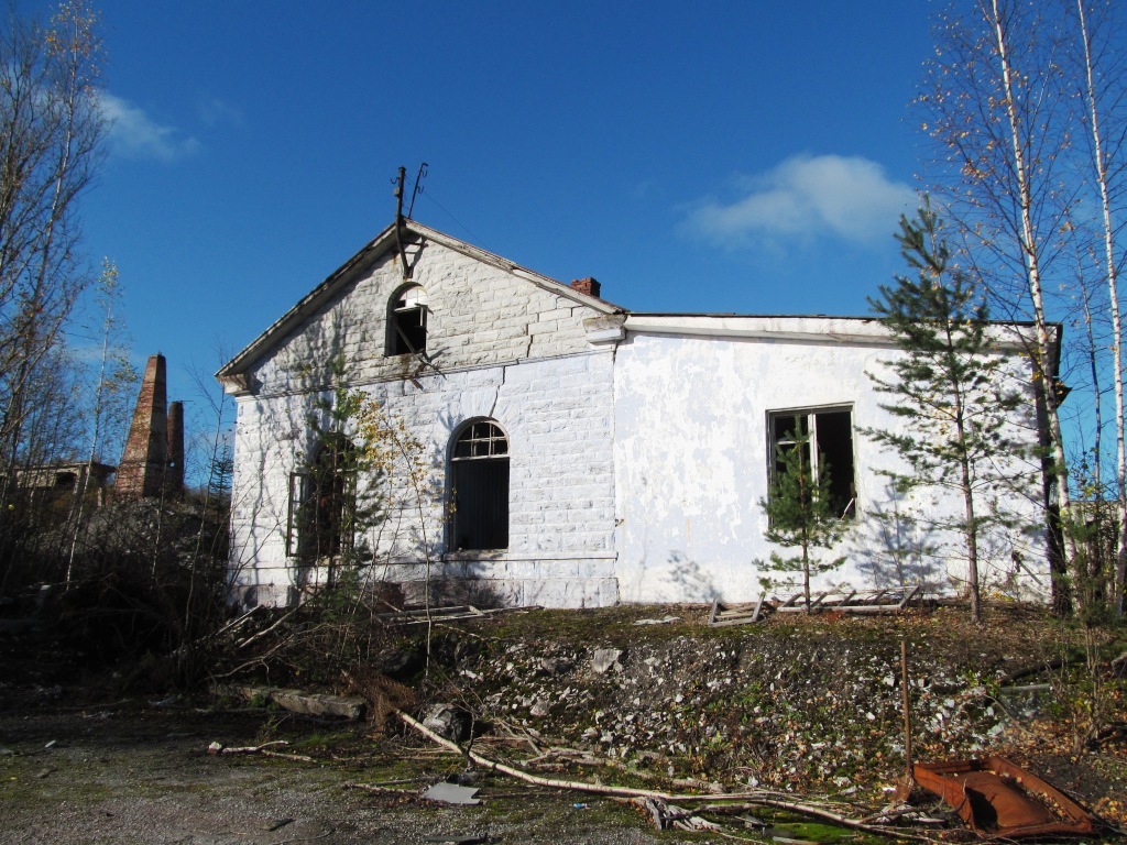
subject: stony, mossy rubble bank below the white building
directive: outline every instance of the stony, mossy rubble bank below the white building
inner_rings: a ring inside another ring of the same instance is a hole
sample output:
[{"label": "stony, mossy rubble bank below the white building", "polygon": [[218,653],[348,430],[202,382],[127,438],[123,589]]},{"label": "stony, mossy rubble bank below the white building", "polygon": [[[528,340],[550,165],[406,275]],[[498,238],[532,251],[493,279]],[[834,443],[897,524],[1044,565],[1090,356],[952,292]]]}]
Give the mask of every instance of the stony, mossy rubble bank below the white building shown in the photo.
[{"label": "stony, mossy rubble bank below the white building", "polygon": [[1020,631],[1002,650],[975,650],[946,615],[499,640],[460,661],[455,683],[480,701],[479,718],[545,745],[728,786],[850,791],[904,768],[900,635],[917,757],[996,745],[1010,726],[1000,682],[1050,659],[1054,643]]}]

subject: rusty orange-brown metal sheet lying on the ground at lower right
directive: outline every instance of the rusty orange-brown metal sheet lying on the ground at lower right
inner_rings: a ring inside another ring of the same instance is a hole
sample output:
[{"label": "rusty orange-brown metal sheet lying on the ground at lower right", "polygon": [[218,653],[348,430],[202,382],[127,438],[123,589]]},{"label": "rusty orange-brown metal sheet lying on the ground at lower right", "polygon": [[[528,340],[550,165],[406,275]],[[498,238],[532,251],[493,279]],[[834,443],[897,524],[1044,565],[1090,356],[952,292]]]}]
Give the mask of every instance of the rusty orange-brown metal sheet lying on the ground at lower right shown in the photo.
[{"label": "rusty orange-brown metal sheet lying on the ground at lower right", "polygon": [[977,834],[1002,838],[1091,836],[1092,815],[1056,786],[1004,757],[916,763],[916,782]]}]

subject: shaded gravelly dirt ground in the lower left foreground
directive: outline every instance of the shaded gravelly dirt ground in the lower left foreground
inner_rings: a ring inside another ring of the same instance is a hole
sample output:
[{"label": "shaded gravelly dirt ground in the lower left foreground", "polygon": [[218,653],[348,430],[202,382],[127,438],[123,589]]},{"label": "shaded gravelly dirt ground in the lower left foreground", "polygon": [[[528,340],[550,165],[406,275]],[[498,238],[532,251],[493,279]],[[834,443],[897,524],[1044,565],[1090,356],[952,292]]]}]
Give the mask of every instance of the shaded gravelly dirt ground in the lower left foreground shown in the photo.
[{"label": "shaded gravelly dirt ground in the lower left foreground", "polygon": [[[398,748],[396,758],[372,751],[329,765],[207,754],[213,741],[248,746],[260,744],[265,735],[285,733],[277,719],[264,713],[215,715],[148,702],[5,710],[0,712],[0,842],[412,845],[483,837],[490,843],[647,845],[708,840],[668,833],[657,838],[631,809],[612,801],[577,799],[492,777],[474,784],[481,790],[481,806],[423,800],[419,791],[458,766],[456,759],[423,746]],[[316,741],[318,726],[294,728],[295,742],[299,736],[307,744]],[[363,748],[364,728],[349,730],[355,735],[353,749]],[[340,741],[338,732],[334,742]],[[397,784],[403,794],[373,794],[346,785],[409,779],[418,780]],[[586,807],[577,808],[576,802]]]}]

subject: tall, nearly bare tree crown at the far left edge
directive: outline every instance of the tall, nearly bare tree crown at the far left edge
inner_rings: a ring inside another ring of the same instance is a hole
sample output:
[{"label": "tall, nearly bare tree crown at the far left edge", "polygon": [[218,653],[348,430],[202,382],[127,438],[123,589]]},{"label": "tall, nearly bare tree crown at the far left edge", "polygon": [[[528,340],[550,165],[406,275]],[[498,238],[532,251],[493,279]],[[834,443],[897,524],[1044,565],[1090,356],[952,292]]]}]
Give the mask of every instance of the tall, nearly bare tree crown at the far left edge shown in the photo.
[{"label": "tall, nearly bare tree crown at the far left edge", "polygon": [[0,504],[28,393],[87,284],[78,198],[99,160],[101,47],[85,2],[47,23],[15,8],[0,33]]}]

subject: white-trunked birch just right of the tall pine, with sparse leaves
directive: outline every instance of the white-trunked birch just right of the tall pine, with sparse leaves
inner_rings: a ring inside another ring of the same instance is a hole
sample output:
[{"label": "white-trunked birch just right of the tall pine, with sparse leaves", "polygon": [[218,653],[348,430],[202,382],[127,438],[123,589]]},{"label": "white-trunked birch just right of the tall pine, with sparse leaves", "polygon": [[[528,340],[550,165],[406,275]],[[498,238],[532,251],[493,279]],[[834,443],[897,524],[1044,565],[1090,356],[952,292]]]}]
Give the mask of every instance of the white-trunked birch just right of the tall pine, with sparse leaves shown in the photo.
[{"label": "white-trunked birch just right of the tall pine, with sparse leaves", "polygon": [[[1042,403],[1055,604],[1071,605],[1075,542],[1058,390],[1057,332],[1049,315],[1067,211],[1082,186],[1067,169],[1070,103],[1058,53],[1058,10],[1023,0],[973,0],[937,29],[935,56],[917,106],[935,141],[931,186],[958,226],[973,272],[1006,317],[1032,322],[1029,356]],[[1054,555],[1057,557],[1057,555]]]}]

